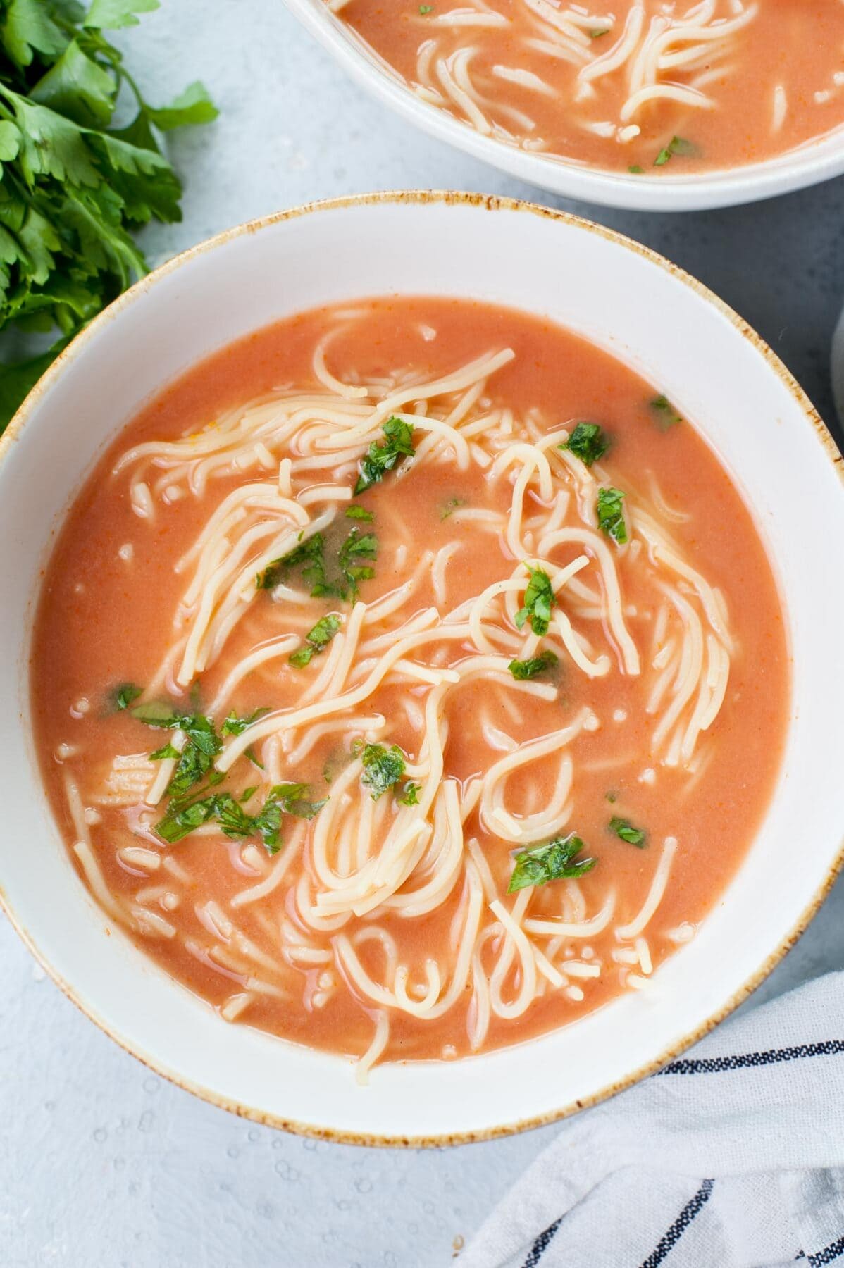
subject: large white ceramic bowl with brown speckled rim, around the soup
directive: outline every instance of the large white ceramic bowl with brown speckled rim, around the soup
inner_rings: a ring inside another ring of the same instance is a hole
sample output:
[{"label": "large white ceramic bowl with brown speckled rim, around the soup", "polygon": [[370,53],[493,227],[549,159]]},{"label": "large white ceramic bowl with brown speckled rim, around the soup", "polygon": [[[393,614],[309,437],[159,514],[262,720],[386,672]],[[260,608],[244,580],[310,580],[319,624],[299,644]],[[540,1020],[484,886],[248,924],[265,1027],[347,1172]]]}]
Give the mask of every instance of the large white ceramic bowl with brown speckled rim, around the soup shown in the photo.
[{"label": "large white ceramic bowl with brown speckled rim, around the soup", "polygon": [[[96,455],[150,393],[229,340],[303,308],[425,293],[547,314],[612,350],[697,421],[776,560],[795,708],[758,839],[696,940],[650,990],[504,1051],[383,1066],[361,1089],[341,1058],[227,1026],[95,907],[44,801],[27,658],[56,526]],[[300,1131],[381,1142],[478,1139],[546,1122],[625,1087],[702,1035],[784,954],[831,884],[844,838],[844,587],[830,585],[829,567],[844,540],[840,458],[769,349],[645,249],[572,217],[476,195],[366,195],[270,217],[195,247],[118,299],[42,379],[0,450],[4,904],[94,1021],[209,1101]]]}]

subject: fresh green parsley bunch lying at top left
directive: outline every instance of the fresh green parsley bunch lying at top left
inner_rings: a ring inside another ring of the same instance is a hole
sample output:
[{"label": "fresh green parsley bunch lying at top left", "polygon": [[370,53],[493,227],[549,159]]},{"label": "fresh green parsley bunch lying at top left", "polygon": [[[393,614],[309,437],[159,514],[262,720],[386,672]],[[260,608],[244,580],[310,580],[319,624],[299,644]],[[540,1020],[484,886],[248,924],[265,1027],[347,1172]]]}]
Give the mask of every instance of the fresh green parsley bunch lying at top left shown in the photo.
[{"label": "fresh green parsley bunch lying at top left", "polygon": [[[62,347],[147,271],[132,231],[179,221],[157,132],[217,117],[201,84],[155,108],[104,32],[158,0],[0,0],[0,332],[52,333],[0,363],[0,431]],[[113,127],[118,96],[132,119]]]}]

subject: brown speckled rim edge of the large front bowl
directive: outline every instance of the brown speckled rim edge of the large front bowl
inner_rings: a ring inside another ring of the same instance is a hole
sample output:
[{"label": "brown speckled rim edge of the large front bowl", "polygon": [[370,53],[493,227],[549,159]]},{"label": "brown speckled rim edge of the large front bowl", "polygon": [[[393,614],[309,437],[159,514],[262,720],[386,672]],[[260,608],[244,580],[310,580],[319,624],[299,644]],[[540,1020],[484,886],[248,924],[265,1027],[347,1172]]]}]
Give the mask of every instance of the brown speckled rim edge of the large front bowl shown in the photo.
[{"label": "brown speckled rim edge of the large front bowl", "polygon": [[[407,191],[385,191],[376,194],[357,194],[348,195],[345,198],[335,198],[324,202],[307,203],[302,207],[294,207],[286,212],[276,212],[272,216],[266,216],[261,219],[248,221],[245,224],[240,224],[236,228],[226,230],[223,233],[218,233],[213,238],[208,238],[205,242],[200,242],[198,246],[184,251],[181,255],[175,256],[172,260],[161,265],[148,276],[141,279],[129,290],[114,301],[104,312],[101,312],[91,323],[87,326],[76,339],[65,349],[63,353],[56,359],[52,366],[47,370],[42,379],[32,389],[27,399],[23,402],[16,415],[9,424],[5,434],[0,436],[0,462],[9,454],[11,446],[19,439],[23,429],[27,426],[33,412],[37,410],[44,394],[53,385],[56,379],[65,372],[65,369],[79,356],[81,351],[87,346],[90,340],[94,340],[99,330],[110,321],[114,321],[119,313],[133,303],[141,294],[147,289],[156,285],[157,280],[166,276],[170,273],[175,273],[182,265],[194,260],[198,255],[205,251],[212,251],[218,246],[223,246],[232,238],[241,237],[246,233],[257,233],[260,230],[269,228],[272,224],[278,224],[283,221],[295,219],[300,216],[313,216],[319,212],[333,212],[341,210],[346,207],[365,207],[369,204],[416,204],[416,205],[461,205],[461,207],[478,207],[488,212],[520,212],[526,216],[536,216],[542,219],[558,221],[563,224],[574,226],[588,233],[594,233],[598,237],[606,238],[615,246],[626,247],[629,251],[635,251],[641,255],[650,264],[656,265],[665,273],[669,273],[678,281],[682,281],[686,287],[693,290],[702,299],[711,303],[719,312],[726,317],[726,320],[738,330],[738,332],[746,339],[753,347],[764,358],[770,370],[777,375],[781,383],[787,388],[788,393],[793,397],[796,404],[800,407],[802,413],[812,425],[815,435],[819,444],[821,445],[826,458],[833,464],[833,468],[838,472],[839,481],[844,488],[844,458],[838,450],[833,436],[821,421],[817,411],[814,408],[806,393],[802,391],[800,384],[790,374],[786,366],[782,364],[778,356],[772,351],[772,349],[759,337],[759,335],[741,318],[736,312],[732,311],[722,299],[719,299],[707,287],[697,281],[683,269],[677,265],[670,264],[662,255],[651,251],[646,246],[625,237],[621,233],[616,233],[613,230],[604,228],[601,224],[594,224],[591,221],[585,221],[582,217],[572,216],[568,212],[551,210],[547,207],[541,207],[536,203],[520,202],[512,198],[499,198],[484,194],[469,194],[469,193],[452,193],[452,191],[438,191],[438,190],[407,190]],[[499,1136],[513,1135],[518,1131],[527,1131],[531,1127],[546,1126],[551,1122],[558,1122],[559,1120],[566,1118],[578,1110],[584,1110],[589,1106],[598,1104],[607,1097],[615,1096],[617,1092],[622,1092],[625,1088],[631,1087],[646,1075],[653,1074],[667,1061],[673,1060],[679,1056],[681,1052],[686,1051],[692,1044],[696,1044],[700,1038],[707,1035],[719,1022],[724,1021],[734,1008],[738,1008],[763,981],[764,978],[776,967],[782,957],[788,952],[795,943],[802,937],[807,926],[817,913],[819,908],[824,903],[826,895],[833,888],[835,879],[844,865],[844,841],[838,848],[834,856],[822,884],[817,888],[812,900],[805,908],[803,913],[796,922],[796,924],[782,937],[774,951],[768,955],[768,957],[759,965],[759,967],[753,973],[734,994],[715,1012],[712,1012],[703,1022],[701,1022],[693,1031],[684,1035],[682,1040],[678,1040],[670,1047],[662,1051],[651,1061],[645,1065],[631,1070],[623,1079],[615,1083],[607,1084],[596,1092],[591,1097],[585,1097],[579,1101],[573,1101],[566,1104],[560,1106],[558,1110],[551,1110],[547,1113],[537,1115],[532,1118],[522,1118],[516,1122],[506,1122],[499,1126],[487,1127],[483,1131],[470,1131],[470,1132],[456,1132],[454,1135],[445,1134],[438,1136],[380,1136],[380,1135],[366,1135],[350,1131],[336,1131],[331,1127],[319,1127],[313,1123],[299,1122],[291,1118],[280,1118],[276,1115],[267,1113],[256,1106],[250,1106],[243,1102],[229,1101],[224,1097],[218,1096],[209,1088],[200,1084],[193,1083],[190,1079],[185,1078],[182,1074],[170,1070],[163,1063],[155,1059],[150,1054],[139,1051],[133,1044],[131,1044],[122,1035],[117,1033],[106,1018],[96,1016],[94,1009],[80,997],[74,985],[65,981],[61,974],[49,964],[46,956],[42,954],[37,946],[34,938],[24,928],[20,919],[16,917],[14,908],[3,889],[0,889],[0,908],[5,912],[9,921],[14,928],[20,935],[23,942],[27,945],[29,951],[33,954],[35,960],[42,965],[44,971],[49,974],[52,980],[63,992],[67,998],[76,1004],[76,1007],[85,1013],[85,1016],[93,1021],[96,1026],[103,1030],[109,1038],[113,1038],[115,1044],[123,1047],[132,1056],[137,1058],[144,1065],[147,1065],[156,1074],[162,1075],[177,1087],[184,1088],[186,1092],[193,1092],[195,1096],[200,1097],[203,1101],[208,1101],[210,1104],[218,1106],[222,1110],[229,1110],[232,1113],[240,1115],[241,1117],[250,1118],[252,1122],[261,1123],[264,1126],[280,1127],[285,1131],[295,1132],[302,1136],[312,1136],[317,1140],[329,1140],[345,1145],[368,1145],[368,1146],[444,1146],[444,1145],[465,1145],[474,1141],[482,1140],[494,1140]]]}]

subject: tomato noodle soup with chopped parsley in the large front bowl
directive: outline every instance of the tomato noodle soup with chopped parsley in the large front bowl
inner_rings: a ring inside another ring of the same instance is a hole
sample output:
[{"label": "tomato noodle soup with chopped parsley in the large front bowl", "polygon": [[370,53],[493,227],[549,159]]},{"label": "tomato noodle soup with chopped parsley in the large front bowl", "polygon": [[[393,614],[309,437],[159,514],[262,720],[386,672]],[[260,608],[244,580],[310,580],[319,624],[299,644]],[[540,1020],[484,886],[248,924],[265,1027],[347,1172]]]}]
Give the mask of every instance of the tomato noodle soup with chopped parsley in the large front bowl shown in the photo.
[{"label": "tomato noodle soup with chopped parsley in the large front bowl", "polygon": [[751,515],[677,404],[437,298],[298,316],[156,397],[32,657],[108,918],[361,1077],[648,989],[753,839],[787,697]]}]

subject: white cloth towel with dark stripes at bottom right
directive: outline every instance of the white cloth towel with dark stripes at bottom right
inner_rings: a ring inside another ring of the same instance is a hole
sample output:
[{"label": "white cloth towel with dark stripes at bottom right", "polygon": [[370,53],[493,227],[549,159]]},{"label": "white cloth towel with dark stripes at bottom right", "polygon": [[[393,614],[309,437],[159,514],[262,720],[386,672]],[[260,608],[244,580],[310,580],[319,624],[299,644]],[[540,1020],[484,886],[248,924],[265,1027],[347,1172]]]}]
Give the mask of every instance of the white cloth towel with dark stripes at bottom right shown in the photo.
[{"label": "white cloth towel with dark stripes at bottom right", "polygon": [[844,973],[563,1123],[461,1268],[844,1265]]}]

